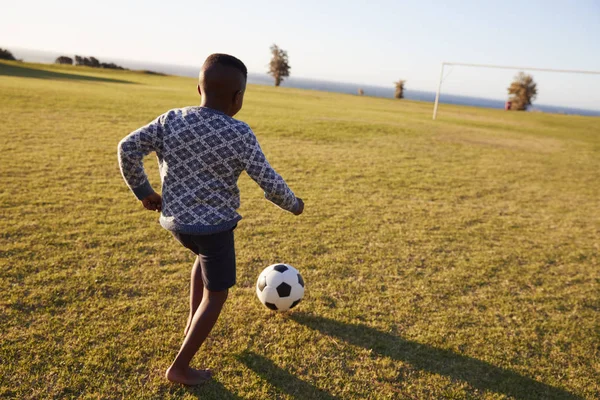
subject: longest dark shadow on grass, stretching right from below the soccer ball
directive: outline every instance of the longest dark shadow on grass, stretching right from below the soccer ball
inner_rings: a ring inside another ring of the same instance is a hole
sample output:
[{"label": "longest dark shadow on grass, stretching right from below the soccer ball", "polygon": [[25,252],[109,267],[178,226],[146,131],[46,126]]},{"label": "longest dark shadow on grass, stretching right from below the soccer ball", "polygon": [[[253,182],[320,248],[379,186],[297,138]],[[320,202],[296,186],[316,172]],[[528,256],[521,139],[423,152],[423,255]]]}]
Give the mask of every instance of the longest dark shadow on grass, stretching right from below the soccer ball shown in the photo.
[{"label": "longest dark shadow on grass, stretching right from below the soccer ball", "polygon": [[515,399],[581,399],[563,389],[511,370],[450,350],[405,340],[365,325],[347,324],[298,312],[290,317],[324,335],[335,336],[352,345],[372,349],[381,356],[407,362],[420,370],[467,382],[479,390],[490,390]]}]

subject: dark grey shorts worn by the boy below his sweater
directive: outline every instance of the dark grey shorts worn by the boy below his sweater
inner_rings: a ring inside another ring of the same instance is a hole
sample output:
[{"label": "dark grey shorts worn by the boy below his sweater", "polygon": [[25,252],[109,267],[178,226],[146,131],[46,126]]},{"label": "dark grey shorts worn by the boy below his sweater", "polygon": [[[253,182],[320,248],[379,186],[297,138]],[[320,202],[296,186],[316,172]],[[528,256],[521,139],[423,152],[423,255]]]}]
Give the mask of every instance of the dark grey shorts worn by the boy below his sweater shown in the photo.
[{"label": "dark grey shorts worn by the boy below his sweater", "polygon": [[171,232],[183,246],[200,259],[202,283],[211,292],[227,290],[235,285],[235,246],[233,230],[212,235],[190,235]]}]

